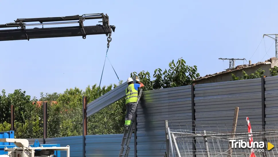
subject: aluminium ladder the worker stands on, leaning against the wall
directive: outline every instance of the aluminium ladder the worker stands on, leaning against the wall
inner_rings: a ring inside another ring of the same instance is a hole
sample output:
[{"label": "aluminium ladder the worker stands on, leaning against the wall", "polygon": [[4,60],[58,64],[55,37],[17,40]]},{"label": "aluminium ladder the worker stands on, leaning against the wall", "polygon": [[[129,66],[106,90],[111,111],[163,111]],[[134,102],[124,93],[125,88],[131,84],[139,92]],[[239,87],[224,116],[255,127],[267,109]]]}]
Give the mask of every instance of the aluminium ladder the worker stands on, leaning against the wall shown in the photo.
[{"label": "aluminium ladder the worker stands on, leaning against the wall", "polygon": [[134,123],[134,120],[135,120],[135,115],[136,115],[136,111],[137,111],[137,107],[138,107],[138,102],[141,98],[141,94],[142,94],[142,89],[140,89],[140,92],[138,94],[138,99],[137,99],[136,105],[134,107],[134,113],[133,113],[133,116],[132,116],[132,119],[131,119],[129,129],[125,128],[125,130],[124,130],[124,136],[123,136],[123,140],[122,140],[122,144],[121,144],[119,157],[128,157],[128,154],[129,154],[129,151],[130,151],[129,143],[130,143],[130,140],[131,140],[131,136],[132,136],[134,127],[136,125]]}]

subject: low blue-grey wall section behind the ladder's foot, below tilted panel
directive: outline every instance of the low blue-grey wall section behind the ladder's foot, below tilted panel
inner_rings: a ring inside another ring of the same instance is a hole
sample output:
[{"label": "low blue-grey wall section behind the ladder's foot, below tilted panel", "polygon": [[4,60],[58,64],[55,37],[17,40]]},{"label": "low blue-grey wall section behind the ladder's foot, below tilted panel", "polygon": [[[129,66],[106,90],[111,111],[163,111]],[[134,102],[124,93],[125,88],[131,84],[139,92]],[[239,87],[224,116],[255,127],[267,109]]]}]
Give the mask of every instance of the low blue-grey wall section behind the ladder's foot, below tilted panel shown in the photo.
[{"label": "low blue-grey wall section behind the ladder's foot, below tilted panel", "polygon": [[[96,157],[119,156],[123,134],[87,135],[85,136],[85,156]],[[134,135],[130,141],[130,157],[134,157]]]}]

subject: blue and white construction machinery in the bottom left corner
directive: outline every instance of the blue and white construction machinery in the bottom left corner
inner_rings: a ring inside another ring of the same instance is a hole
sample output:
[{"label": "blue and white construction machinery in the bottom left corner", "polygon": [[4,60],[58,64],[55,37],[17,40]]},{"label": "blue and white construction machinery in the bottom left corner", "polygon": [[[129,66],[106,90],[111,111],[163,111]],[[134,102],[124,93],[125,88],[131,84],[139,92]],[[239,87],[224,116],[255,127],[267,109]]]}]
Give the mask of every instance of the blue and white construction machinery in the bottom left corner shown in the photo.
[{"label": "blue and white construction machinery in the bottom left corner", "polygon": [[60,157],[61,150],[66,150],[66,156],[70,157],[69,146],[40,144],[38,140],[29,144],[27,139],[14,138],[14,131],[0,132],[0,157]]}]

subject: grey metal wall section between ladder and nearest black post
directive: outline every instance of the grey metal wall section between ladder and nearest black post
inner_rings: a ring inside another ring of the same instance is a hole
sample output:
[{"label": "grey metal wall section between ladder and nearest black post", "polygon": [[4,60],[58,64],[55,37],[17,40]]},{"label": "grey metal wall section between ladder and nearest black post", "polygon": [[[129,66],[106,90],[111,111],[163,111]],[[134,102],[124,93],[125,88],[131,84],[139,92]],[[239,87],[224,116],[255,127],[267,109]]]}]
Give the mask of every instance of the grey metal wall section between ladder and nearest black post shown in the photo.
[{"label": "grey metal wall section between ladder and nearest black post", "polygon": [[164,156],[165,120],[179,129],[187,121],[191,127],[191,118],[191,86],[144,91],[137,110],[137,156]]}]

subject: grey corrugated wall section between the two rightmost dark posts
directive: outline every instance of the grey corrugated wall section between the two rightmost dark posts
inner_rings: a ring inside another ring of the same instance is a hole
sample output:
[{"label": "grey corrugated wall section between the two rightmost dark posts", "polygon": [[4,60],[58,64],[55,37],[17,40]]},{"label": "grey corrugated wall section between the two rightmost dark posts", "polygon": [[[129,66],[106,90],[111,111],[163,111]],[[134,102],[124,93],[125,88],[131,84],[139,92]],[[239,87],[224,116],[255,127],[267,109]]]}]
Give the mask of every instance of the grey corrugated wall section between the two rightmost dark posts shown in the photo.
[{"label": "grey corrugated wall section between the two rightmost dark posts", "polygon": [[247,116],[251,124],[261,125],[261,79],[197,84],[194,94],[196,130],[231,131],[236,106],[238,122],[242,124],[237,125],[237,131],[247,129]]}]

